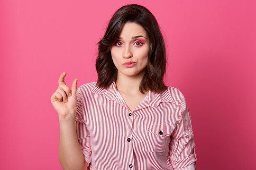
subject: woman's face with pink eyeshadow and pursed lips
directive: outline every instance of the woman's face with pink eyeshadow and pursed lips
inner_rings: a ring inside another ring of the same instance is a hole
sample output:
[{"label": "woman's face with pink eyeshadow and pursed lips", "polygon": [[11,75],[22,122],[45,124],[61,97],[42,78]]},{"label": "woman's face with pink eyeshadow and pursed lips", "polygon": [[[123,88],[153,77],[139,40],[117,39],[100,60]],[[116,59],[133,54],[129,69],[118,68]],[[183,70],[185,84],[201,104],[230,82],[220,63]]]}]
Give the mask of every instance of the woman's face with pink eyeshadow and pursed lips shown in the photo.
[{"label": "woman's face with pink eyeshadow and pursed lips", "polygon": [[110,48],[118,75],[143,76],[147,66],[149,45],[149,37],[142,26],[132,22],[124,24],[118,39]]}]

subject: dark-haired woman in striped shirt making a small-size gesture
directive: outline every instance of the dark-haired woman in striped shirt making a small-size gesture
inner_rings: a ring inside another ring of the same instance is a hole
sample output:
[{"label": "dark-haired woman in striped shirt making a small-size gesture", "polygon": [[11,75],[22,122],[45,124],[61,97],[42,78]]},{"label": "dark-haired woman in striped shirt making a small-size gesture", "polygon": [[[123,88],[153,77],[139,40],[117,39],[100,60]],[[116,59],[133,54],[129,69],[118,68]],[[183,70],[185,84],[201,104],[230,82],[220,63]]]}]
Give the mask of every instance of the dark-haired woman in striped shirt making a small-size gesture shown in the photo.
[{"label": "dark-haired woman in striped shirt making a small-size gesture", "polygon": [[97,82],[69,89],[64,72],[51,97],[64,169],[195,169],[191,118],[183,94],[163,83],[165,64],[152,13],[119,8],[99,42]]}]

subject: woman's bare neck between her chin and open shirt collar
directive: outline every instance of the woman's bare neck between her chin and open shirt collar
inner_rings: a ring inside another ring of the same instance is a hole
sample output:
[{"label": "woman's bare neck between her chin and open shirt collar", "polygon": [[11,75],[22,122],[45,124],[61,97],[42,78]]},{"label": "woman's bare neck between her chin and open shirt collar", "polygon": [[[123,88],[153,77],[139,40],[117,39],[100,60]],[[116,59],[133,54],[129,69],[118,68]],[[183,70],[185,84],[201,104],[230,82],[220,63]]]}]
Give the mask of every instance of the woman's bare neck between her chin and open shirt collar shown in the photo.
[{"label": "woman's bare neck between her chin and open shirt collar", "polygon": [[121,73],[118,73],[116,86],[120,93],[129,93],[129,94],[138,94],[140,82],[144,76],[144,72],[137,74],[135,76],[126,76]]}]

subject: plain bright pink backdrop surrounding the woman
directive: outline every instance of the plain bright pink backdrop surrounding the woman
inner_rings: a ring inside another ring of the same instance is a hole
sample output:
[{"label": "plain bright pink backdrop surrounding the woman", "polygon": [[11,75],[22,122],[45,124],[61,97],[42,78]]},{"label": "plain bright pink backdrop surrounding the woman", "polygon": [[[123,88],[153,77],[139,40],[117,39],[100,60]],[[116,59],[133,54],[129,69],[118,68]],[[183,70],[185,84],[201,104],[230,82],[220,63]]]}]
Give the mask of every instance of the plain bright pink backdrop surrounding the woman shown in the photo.
[{"label": "plain bright pink backdrop surrounding the woman", "polygon": [[254,0],[1,0],[1,170],[62,169],[50,97],[64,71],[69,86],[96,81],[96,43],[131,3],[163,31],[165,82],[186,98],[197,169],[256,169]]}]

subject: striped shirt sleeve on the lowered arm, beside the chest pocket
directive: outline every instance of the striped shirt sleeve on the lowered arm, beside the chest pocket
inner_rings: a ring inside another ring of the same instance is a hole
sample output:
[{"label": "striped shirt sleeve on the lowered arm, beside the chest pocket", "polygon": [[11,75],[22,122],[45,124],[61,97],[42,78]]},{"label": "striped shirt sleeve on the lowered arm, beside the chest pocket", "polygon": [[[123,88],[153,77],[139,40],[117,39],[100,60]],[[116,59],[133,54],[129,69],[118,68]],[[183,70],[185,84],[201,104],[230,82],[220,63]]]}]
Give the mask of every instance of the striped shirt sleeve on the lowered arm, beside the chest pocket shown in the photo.
[{"label": "striped shirt sleeve on the lowered arm, beside the chest pocket", "polygon": [[169,160],[174,170],[195,170],[197,159],[192,122],[183,95],[179,109],[181,115],[171,135]]}]

